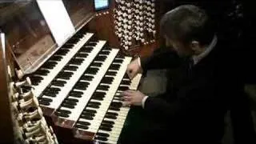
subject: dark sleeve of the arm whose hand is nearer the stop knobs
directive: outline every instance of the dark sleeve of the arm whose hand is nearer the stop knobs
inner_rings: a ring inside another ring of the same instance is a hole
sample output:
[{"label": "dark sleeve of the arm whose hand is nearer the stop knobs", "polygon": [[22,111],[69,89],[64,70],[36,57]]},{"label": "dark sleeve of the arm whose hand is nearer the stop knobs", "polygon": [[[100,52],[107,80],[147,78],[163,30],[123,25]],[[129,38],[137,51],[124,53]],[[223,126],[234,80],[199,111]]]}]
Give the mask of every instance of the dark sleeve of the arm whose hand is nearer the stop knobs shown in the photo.
[{"label": "dark sleeve of the arm whose hand is nearer the stop knobs", "polygon": [[154,50],[150,57],[140,58],[143,70],[170,69],[179,66],[181,62],[182,58],[166,47]]}]

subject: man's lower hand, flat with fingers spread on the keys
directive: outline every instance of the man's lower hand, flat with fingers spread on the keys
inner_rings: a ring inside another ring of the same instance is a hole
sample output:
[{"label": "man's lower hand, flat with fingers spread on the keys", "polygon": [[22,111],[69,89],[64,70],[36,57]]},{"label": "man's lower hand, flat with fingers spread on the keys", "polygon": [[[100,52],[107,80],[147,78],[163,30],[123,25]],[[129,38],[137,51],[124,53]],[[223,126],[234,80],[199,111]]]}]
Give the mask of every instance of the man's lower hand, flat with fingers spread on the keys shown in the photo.
[{"label": "man's lower hand, flat with fingers spread on the keys", "polygon": [[145,94],[142,94],[138,90],[126,90],[122,93],[122,96],[125,100],[124,105],[125,106],[142,106],[142,99],[146,96]]}]

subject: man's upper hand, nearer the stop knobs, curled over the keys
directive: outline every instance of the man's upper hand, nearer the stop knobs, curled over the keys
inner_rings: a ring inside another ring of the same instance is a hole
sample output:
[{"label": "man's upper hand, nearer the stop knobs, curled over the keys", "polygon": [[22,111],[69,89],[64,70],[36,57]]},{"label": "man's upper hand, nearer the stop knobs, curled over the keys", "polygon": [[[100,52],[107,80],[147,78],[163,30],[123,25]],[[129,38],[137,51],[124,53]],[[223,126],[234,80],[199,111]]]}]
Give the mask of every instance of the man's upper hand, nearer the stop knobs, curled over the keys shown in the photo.
[{"label": "man's upper hand, nearer the stop knobs, curled over the keys", "polygon": [[130,62],[130,64],[127,66],[126,73],[128,74],[130,79],[133,79],[141,70],[142,70],[141,66],[138,65],[138,58],[136,58],[133,62]]}]

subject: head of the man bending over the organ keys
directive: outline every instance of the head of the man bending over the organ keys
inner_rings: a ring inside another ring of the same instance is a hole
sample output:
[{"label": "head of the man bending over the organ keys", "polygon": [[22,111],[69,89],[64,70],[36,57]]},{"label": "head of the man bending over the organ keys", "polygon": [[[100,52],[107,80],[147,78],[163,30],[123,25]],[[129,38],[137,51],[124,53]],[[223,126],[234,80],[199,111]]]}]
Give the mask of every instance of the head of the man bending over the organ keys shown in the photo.
[{"label": "head of the man bending over the organ keys", "polygon": [[160,22],[166,44],[179,55],[201,54],[214,38],[214,26],[204,10],[193,5],[178,6],[167,12]]}]

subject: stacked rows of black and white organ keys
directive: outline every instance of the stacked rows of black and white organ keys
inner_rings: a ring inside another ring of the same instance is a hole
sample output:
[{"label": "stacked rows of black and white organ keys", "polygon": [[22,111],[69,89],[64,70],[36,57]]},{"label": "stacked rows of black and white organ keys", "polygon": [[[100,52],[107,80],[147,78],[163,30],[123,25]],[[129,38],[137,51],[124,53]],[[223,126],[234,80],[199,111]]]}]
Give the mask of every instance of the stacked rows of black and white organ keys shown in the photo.
[{"label": "stacked rows of black and white organ keys", "polygon": [[126,75],[130,57],[111,49],[94,34],[76,34],[30,74],[43,114],[75,138],[118,142],[129,108],[124,90],[137,90],[141,75]]}]

